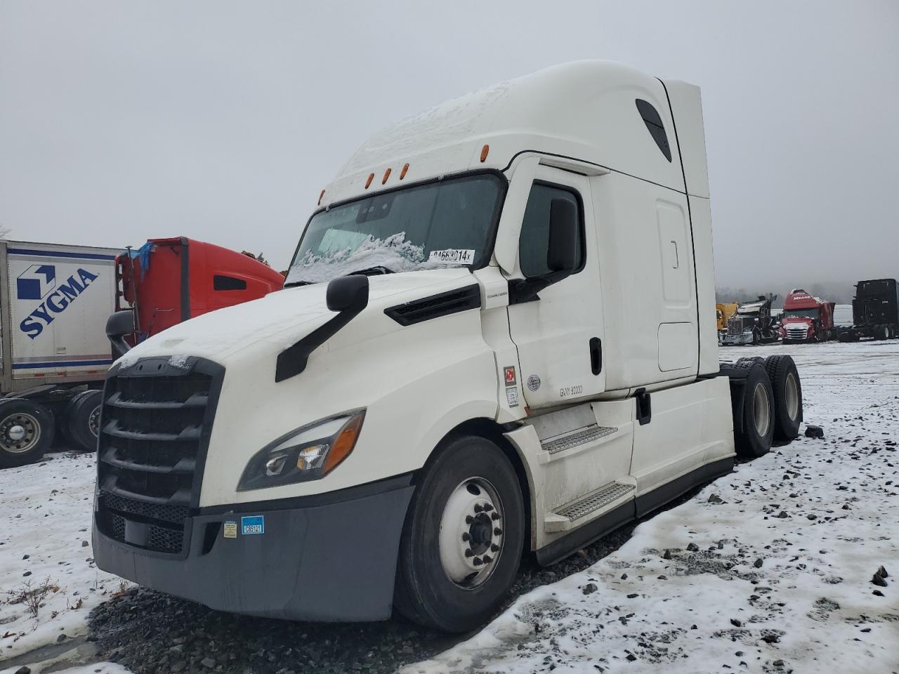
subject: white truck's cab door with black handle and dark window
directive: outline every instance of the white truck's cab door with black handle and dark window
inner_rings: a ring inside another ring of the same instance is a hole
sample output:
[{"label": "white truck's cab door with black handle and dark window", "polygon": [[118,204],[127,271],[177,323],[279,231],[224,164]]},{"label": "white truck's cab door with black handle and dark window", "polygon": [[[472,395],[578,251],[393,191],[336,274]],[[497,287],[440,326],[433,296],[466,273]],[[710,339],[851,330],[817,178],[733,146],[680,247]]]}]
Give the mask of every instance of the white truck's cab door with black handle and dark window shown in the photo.
[{"label": "white truck's cab door with black handle and dark window", "polygon": [[[550,214],[554,200],[572,202],[580,222],[575,242],[580,260],[563,279],[536,295],[517,287],[552,278],[548,267]],[[531,408],[570,404],[602,393],[602,292],[593,226],[590,182],[540,165],[521,221],[518,268],[510,280],[509,327],[518,347],[521,390]]]}]

